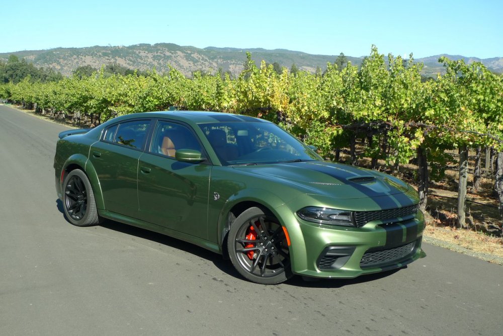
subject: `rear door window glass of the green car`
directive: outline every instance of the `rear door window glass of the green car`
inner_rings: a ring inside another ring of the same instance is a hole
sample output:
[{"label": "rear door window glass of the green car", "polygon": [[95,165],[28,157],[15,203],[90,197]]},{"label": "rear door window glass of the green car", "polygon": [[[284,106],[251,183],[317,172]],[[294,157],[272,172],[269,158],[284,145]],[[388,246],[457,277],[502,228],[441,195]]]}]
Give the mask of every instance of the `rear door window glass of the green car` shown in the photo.
[{"label": "rear door window glass of the green car", "polygon": [[150,120],[128,121],[111,126],[105,133],[104,140],[132,148],[143,148]]}]

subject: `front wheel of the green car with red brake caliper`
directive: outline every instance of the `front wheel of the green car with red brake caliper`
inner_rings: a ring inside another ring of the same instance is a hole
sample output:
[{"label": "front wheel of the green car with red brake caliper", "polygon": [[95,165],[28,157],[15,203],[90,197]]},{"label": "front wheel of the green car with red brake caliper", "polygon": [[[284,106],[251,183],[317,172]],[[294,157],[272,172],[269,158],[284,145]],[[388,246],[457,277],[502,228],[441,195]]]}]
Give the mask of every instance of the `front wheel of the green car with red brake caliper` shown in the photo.
[{"label": "front wheel of the green car with red brake caliper", "polygon": [[234,268],[251,282],[274,285],[293,275],[283,227],[260,208],[247,209],[232,223],[227,250]]}]

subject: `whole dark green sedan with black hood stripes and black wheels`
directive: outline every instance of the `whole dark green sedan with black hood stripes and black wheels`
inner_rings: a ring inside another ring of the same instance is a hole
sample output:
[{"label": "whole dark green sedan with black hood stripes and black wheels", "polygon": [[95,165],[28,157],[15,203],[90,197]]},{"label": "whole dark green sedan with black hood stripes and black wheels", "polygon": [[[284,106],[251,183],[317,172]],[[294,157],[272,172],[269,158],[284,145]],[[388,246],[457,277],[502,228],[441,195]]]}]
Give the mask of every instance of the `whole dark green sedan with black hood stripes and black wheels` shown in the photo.
[{"label": "whole dark green sedan with black hood stripes and black wheels", "polygon": [[277,125],[214,112],[148,112],[59,134],[66,219],[104,218],[229,258],[244,278],[354,278],[425,257],[408,184],[324,161]]}]

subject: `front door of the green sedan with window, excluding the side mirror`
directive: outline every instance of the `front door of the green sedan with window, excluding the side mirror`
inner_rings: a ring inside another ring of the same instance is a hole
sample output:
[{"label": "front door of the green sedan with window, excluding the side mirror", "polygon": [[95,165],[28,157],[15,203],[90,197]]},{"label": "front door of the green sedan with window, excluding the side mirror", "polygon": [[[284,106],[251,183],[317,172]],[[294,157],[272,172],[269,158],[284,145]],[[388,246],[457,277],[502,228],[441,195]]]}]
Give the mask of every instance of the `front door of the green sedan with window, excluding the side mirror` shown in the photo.
[{"label": "front door of the green sedan with window, excluding the side mirror", "polygon": [[207,157],[197,136],[189,126],[159,120],[147,149],[138,164],[140,219],[207,239],[211,164],[175,159],[180,149]]}]

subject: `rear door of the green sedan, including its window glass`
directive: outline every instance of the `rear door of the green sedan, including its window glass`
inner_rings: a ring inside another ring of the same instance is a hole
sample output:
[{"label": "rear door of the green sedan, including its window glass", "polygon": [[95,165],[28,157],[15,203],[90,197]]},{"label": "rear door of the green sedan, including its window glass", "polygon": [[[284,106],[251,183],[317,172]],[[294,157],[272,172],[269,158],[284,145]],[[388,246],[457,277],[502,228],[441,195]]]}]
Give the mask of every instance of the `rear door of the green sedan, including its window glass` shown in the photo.
[{"label": "rear door of the green sedan, including its window glass", "polygon": [[133,218],[138,216],[138,158],[143,152],[151,120],[126,121],[105,130],[91,146],[105,208]]}]

